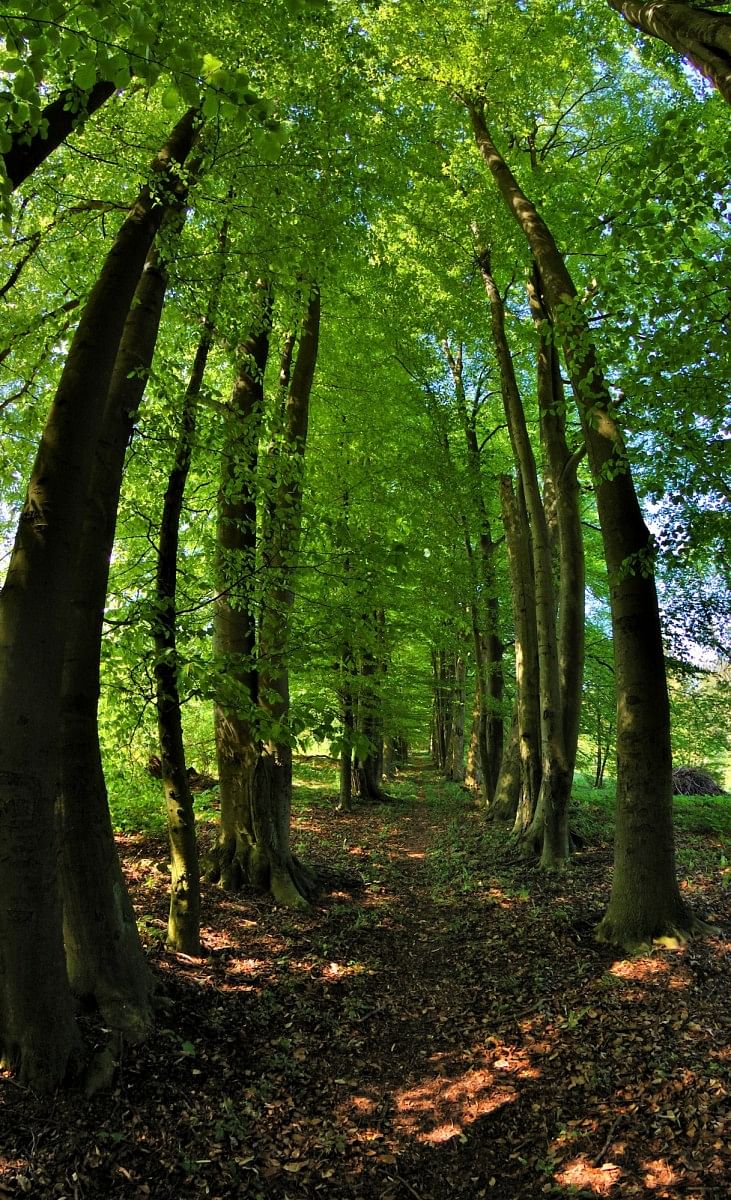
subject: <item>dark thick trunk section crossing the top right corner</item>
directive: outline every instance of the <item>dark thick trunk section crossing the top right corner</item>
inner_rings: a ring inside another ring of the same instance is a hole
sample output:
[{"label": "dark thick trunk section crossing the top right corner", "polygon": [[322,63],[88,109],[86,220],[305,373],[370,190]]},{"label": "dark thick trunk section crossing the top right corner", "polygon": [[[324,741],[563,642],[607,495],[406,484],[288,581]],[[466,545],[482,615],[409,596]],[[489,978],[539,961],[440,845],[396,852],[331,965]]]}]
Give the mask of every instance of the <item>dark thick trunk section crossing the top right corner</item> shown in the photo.
[{"label": "dark thick trunk section crossing the top right corner", "polygon": [[731,16],[683,0],[607,0],[610,8],[651,37],[659,37],[718,88],[731,104]]}]

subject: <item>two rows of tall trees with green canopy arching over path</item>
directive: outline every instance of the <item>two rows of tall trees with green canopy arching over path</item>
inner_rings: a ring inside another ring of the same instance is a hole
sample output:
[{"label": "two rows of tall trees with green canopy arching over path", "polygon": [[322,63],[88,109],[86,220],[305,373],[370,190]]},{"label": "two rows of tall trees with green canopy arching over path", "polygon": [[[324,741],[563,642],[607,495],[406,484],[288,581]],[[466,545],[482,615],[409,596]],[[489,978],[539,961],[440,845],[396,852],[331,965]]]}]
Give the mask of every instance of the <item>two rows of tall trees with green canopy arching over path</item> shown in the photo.
[{"label": "two rows of tall trees with green canopy arching over path", "polygon": [[725,6],[48,0],[0,36],[2,1064],[72,1078],[79,1003],[150,1028],[108,787],[151,754],[186,954],[202,874],[317,896],[304,737],[344,809],[429,739],[545,870],[606,773],[598,936],[702,932],[671,768],[727,750]]}]

